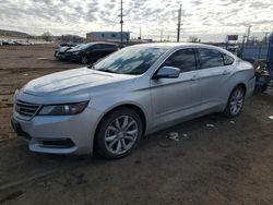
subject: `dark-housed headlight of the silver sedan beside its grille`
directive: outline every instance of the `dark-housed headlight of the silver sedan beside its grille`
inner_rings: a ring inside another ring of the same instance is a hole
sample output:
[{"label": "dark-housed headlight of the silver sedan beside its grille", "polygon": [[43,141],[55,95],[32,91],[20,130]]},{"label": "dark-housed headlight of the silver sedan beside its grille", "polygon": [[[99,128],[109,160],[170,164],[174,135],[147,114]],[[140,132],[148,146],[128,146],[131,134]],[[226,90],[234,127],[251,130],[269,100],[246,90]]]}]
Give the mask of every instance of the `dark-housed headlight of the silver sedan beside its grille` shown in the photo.
[{"label": "dark-housed headlight of the silver sedan beside its grille", "polygon": [[88,105],[88,101],[76,104],[64,104],[54,106],[43,106],[38,116],[73,116],[81,113]]}]

